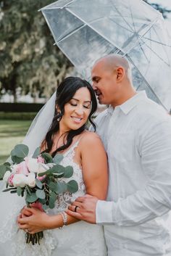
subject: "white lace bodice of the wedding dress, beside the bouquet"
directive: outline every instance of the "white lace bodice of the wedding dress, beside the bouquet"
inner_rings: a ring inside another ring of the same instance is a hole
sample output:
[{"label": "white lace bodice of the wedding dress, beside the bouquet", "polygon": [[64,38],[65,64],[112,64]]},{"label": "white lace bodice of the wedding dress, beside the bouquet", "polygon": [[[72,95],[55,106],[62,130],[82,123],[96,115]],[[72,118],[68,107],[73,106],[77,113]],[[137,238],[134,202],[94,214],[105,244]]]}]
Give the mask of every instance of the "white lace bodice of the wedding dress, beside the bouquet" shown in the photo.
[{"label": "white lace bodice of the wedding dress, beside the bouquet", "polygon": [[83,173],[80,168],[80,166],[74,162],[74,156],[75,156],[75,147],[78,146],[79,141],[76,141],[75,144],[73,144],[70,149],[67,150],[63,154],[63,160],[60,162],[60,165],[63,165],[66,167],[67,165],[71,165],[73,168],[73,175],[71,178],[61,178],[61,181],[71,181],[75,180],[78,183],[78,191],[76,193],[70,193],[65,192],[63,194],[59,194],[57,196],[57,201],[55,204],[54,209],[49,210],[49,213],[57,214],[58,212],[62,212],[66,210],[67,206],[70,205],[72,202],[75,201],[77,197],[83,196],[86,194],[86,187],[83,183]]}]

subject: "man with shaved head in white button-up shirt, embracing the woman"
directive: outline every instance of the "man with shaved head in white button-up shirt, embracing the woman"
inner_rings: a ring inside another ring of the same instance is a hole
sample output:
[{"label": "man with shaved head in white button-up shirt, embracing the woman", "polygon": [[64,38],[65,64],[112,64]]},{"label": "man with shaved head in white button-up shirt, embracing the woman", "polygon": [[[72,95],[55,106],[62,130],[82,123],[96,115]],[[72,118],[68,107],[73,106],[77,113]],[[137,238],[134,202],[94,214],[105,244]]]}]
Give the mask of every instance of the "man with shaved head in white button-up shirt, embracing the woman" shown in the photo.
[{"label": "man with shaved head in white button-up shirt, embracing the woman", "polygon": [[99,103],[109,104],[96,118],[109,161],[108,196],[79,197],[67,213],[104,225],[109,256],[169,256],[171,117],[135,91],[120,55],[99,59],[92,80]]}]

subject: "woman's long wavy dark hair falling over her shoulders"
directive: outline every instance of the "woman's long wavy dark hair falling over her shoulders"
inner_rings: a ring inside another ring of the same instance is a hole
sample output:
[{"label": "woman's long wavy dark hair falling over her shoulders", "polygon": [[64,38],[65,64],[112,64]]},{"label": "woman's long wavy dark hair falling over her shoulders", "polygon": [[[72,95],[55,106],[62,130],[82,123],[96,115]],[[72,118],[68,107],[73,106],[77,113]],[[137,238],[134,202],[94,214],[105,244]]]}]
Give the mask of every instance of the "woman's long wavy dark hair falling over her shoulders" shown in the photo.
[{"label": "woman's long wavy dark hair falling over her shoulders", "polygon": [[[91,117],[93,113],[96,112],[97,102],[96,102],[96,96],[94,94],[93,88],[91,87],[91,84],[88,83],[86,80],[83,80],[78,77],[65,78],[57,88],[55,105],[59,108],[60,112],[57,112],[57,109],[55,107],[54,118],[52,120],[49,131],[46,134],[46,137],[43,141],[43,144],[46,145],[46,149],[43,152],[51,151],[51,148],[53,146],[54,134],[57,133],[57,131],[59,131],[59,120],[61,120],[62,115],[64,115],[64,105],[67,102],[70,102],[72,97],[75,95],[76,91],[78,91],[78,89],[82,87],[88,88],[88,91],[91,94],[91,112],[88,116],[88,120],[93,125],[94,131],[96,131],[96,125],[93,123],[93,120],[91,119]],[[86,124],[82,125],[77,130],[68,131],[66,134],[66,141],[67,141],[66,144],[55,149],[55,151],[51,154],[52,157],[54,157],[55,154],[57,154],[57,152],[67,149],[70,146],[70,144],[72,144],[72,139],[74,138],[74,136],[82,133],[85,129],[86,129]]]}]

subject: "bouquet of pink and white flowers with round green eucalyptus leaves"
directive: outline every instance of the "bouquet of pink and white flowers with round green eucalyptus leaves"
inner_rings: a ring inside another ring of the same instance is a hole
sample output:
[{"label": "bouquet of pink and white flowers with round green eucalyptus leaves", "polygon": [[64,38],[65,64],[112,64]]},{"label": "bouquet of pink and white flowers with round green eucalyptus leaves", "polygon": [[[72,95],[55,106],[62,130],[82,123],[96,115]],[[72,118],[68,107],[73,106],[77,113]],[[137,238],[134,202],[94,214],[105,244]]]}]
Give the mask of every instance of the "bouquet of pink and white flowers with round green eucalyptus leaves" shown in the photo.
[{"label": "bouquet of pink and white flowers with round green eucalyptus leaves", "polygon": [[[41,153],[36,149],[33,155],[28,156],[28,146],[18,144],[11,152],[11,160],[0,165],[0,180],[7,183],[4,190],[17,193],[19,197],[25,197],[28,207],[38,207],[41,210],[53,209],[57,195],[69,191],[78,191],[78,183],[70,180],[67,183],[62,178],[70,178],[73,174],[72,166],[64,167],[59,163],[62,154],[52,158],[48,153]],[[40,207],[41,206],[41,207]],[[37,234],[25,234],[27,243],[40,244],[43,232]]]}]

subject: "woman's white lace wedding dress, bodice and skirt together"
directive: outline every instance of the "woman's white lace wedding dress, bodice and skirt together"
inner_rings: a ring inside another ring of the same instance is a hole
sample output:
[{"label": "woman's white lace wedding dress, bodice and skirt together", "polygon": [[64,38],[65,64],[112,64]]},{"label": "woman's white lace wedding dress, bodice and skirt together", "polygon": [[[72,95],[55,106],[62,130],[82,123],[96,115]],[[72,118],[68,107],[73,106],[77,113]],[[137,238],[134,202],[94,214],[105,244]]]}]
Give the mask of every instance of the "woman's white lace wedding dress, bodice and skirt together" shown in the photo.
[{"label": "woman's white lace wedding dress, bodice and skirt together", "polygon": [[[78,182],[78,191],[74,194],[66,192],[57,198],[55,208],[49,210],[50,215],[64,211],[72,201],[86,193],[83,183],[83,173],[78,164],[73,161],[75,147],[78,141],[64,153],[62,165],[72,165],[74,169],[71,178]],[[41,245],[25,243],[25,232],[17,230],[16,218],[25,202],[20,197],[0,193],[0,204],[5,196],[3,210],[0,213],[0,256],[106,256],[107,249],[104,241],[102,226],[79,221],[62,229],[43,231]],[[13,207],[12,207],[13,205]],[[2,205],[1,205],[2,207]],[[4,217],[6,216],[6,217]]]}]

